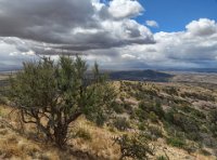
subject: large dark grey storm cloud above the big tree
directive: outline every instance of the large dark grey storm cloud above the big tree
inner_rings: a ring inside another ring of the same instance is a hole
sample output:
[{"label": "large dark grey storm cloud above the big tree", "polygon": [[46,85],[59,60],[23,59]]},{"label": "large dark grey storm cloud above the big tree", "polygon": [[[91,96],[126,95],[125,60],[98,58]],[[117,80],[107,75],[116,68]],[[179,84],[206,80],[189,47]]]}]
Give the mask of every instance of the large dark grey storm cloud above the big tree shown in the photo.
[{"label": "large dark grey storm cloud above the big tree", "polygon": [[[0,0],[0,37],[17,37],[72,51],[153,42],[151,35],[142,36],[132,27],[126,28],[128,37],[114,36],[115,30],[101,24],[111,21],[106,8],[98,11],[90,0]],[[81,31],[76,32],[77,28]]]}]

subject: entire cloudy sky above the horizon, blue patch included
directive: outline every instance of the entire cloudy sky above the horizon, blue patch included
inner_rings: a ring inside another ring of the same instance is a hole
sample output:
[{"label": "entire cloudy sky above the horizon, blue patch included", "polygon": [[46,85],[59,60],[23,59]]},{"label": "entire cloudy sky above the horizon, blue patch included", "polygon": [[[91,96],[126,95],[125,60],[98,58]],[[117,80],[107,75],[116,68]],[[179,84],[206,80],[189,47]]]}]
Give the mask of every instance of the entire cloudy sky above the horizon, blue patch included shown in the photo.
[{"label": "entire cloudy sky above the horizon, blue patch included", "polygon": [[217,68],[217,0],[0,0],[0,70],[59,54],[104,69]]}]

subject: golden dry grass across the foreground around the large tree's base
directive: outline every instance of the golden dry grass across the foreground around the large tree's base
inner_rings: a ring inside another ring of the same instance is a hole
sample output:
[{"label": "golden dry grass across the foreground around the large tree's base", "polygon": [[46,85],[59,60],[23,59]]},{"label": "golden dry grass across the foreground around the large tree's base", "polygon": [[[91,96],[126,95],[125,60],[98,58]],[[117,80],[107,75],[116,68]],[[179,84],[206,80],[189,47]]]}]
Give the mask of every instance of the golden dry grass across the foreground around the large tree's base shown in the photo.
[{"label": "golden dry grass across the foreground around the large tree's base", "polygon": [[[9,109],[9,108],[8,108]],[[4,108],[4,111],[7,109]],[[8,110],[9,111],[9,110]],[[8,112],[7,111],[7,112]],[[10,111],[9,111],[10,112]],[[1,118],[2,119],[2,118]],[[0,119],[0,120],[1,120]],[[80,159],[79,156],[85,154],[91,155],[93,159],[117,160],[120,156],[119,147],[113,144],[111,137],[119,135],[119,132],[110,132],[108,129],[98,128],[93,123],[80,117],[74,124],[75,131],[85,129],[91,135],[91,139],[87,141],[82,137],[72,138],[68,142],[73,146],[73,150],[79,150],[76,156],[72,151],[60,151],[55,147],[42,142],[28,139],[21,134],[14,132],[4,124],[0,124],[0,159],[30,160],[30,159]],[[166,145],[164,139],[156,143],[156,157],[165,155],[165,150],[170,160],[214,160],[214,157],[205,157],[200,154],[189,155],[187,151]],[[84,157],[82,159],[88,159]],[[153,158],[154,159],[154,158]]]}]

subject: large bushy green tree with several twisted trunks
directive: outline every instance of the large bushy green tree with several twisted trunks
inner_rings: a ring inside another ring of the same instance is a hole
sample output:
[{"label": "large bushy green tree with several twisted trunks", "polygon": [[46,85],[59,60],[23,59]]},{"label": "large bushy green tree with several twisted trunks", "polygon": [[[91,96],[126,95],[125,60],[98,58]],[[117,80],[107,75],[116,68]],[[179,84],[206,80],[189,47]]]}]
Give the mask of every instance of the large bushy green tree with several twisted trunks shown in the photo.
[{"label": "large bushy green tree with several twisted trunks", "polygon": [[60,148],[67,141],[69,123],[80,115],[99,125],[111,115],[114,89],[97,64],[91,76],[87,69],[86,62],[78,56],[61,56],[56,63],[43,57],[24,63],[23,70],[10,79],[9,98],[22,120],[36,124]]}]

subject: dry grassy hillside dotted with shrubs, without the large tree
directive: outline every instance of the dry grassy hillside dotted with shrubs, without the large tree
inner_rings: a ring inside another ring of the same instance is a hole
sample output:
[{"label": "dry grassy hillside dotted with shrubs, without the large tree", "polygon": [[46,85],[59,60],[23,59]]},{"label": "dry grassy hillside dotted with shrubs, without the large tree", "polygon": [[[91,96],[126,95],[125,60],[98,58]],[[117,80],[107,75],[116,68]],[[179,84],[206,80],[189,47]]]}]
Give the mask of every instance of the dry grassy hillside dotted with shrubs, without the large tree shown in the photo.
[{"label": "dry grassy hillside dotted with shrubs, without the large tree", "polygon": [[[23,124],[17,111],[0,106],[0,159],[110,159],[120,157],[112,137],[144,132],[155,146],[155,156],[170,160],[215,160],[217,88],[188,83],[115,81],[118,98],[114,119],[99,128],[80,117],[72,123],[72,139],[65,150],[44,144],[31,124]],[[73,136],[76,135],[76,136]]]}]

